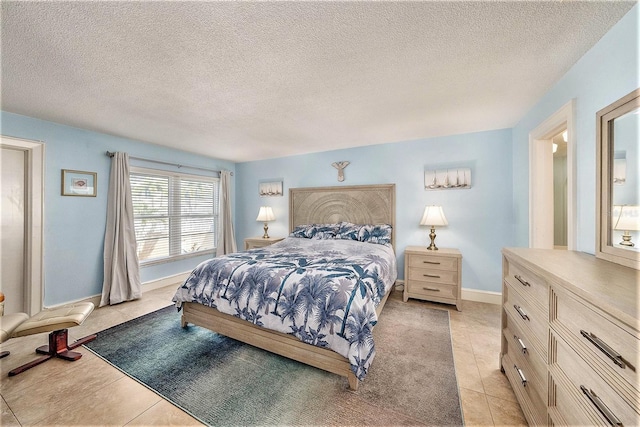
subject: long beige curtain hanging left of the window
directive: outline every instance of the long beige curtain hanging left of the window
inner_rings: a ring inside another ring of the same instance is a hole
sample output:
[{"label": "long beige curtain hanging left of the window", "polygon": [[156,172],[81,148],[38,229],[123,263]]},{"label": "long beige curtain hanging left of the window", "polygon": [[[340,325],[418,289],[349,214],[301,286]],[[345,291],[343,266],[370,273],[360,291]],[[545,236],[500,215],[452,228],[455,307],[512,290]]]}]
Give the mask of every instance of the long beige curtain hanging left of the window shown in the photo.
[{"label": "long beige curtain hanging left of the window", "polygon": [[129,182],[129,155],[114,153],[109,178],[100,307],[138,299],[142,294],[141,288]]}]

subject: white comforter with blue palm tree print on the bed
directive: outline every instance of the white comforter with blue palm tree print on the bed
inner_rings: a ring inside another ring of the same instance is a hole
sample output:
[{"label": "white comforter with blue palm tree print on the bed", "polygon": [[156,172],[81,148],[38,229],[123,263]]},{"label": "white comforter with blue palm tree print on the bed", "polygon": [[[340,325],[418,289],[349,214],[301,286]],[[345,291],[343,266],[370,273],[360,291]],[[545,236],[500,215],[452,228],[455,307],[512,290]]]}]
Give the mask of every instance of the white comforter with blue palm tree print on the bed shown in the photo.
[{"label": "white comforter with blue palm tree print on the bed", "polygon": [[397,277],[389,245],[288,237],[198,265],[173,301],[197,302],[348,358],[364,379],[376,307]]}]

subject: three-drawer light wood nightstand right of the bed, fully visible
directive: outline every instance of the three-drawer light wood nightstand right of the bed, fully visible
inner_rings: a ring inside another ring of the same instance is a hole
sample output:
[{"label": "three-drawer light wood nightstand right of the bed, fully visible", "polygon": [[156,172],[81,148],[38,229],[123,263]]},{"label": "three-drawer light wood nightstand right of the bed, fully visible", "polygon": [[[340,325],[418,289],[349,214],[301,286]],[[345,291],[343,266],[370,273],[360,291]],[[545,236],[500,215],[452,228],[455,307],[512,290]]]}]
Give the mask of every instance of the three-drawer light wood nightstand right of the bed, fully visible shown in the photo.
[{"label": "three-drawer light wood nightstand right of the bed, fully visible", "polygon": [[431,251],[408,246],[404,251],[404,294],[409,298],[453,304],[462,310],[462,254],[457,249]]}]

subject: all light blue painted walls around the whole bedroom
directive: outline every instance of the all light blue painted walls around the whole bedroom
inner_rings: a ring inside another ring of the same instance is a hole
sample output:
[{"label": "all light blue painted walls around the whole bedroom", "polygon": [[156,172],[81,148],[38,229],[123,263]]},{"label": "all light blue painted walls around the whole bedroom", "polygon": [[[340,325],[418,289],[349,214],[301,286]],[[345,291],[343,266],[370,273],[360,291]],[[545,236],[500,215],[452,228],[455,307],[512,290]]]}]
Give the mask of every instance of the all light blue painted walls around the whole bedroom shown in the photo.
[{"label": "all light blue painted walls around the whole bedroom", "polygon": [[[271,205],[277,220],[270,234],[286,235],[290,187],[340,185],[331,163],[349,160],[342,185],[395,183],[397,252],[403,276],[403,248],[426,245],[420,227],[424,206],[441,204],[449,226],[437,231],[440,247],[457,247],[464,256],[463,287],[500,291],[505,246],[528,245],[528,134],[569,100],[576,99],[578,250],[595,248],[595,114],[640,87],[636,5],[513,128],[467,135],[382,144],[304,156],[233,164],[161,146],[118,138],[16,114],[0,112],[0,132],[40,140],[46,147],[45,305],[99,294],[110,162],[105,151],[193,166],[236,171],[236,237],[262,234],[258,207]],[[526,84],[526,82],[523,82]],[[429,118],[425,118],[428,120]],[[318,147],[321,149],[321,147]],[[425,191],[425,169],[470,167],[473,188]],[[60,170],[98,173],[98,197],[60,196]],[[284,179],[285,195],[258,196],[258,181]],[[236,197],[237,195],[237,197]],[[190,270],[199,260],[145,268],[142,280]]]}]

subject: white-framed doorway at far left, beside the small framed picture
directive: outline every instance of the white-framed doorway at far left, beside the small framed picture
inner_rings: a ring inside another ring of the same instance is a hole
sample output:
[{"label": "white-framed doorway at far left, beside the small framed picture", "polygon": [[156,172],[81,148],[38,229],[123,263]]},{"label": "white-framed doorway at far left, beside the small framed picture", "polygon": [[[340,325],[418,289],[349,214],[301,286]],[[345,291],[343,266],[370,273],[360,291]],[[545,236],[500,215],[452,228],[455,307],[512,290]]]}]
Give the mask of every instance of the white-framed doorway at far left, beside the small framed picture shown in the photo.
[{"label": "white-framed doorway at far left, beside the small framed picture", "polygon": [[0,136],[0,291],[5,313],[42,310],[44,144]]}]

